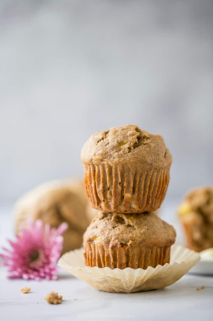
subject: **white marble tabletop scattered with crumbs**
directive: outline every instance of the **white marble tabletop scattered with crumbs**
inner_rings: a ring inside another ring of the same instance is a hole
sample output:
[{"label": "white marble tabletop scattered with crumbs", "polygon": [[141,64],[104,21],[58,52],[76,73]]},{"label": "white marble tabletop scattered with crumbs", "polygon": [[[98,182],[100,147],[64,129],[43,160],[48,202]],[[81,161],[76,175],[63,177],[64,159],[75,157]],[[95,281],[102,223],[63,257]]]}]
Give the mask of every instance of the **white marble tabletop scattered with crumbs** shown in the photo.
[{"label": "white marble tabletop scattered with crumbs", "polygon": [[[179,240],[180,230],[175,219],[175,203],[162,208],[164,219],[175,224]],[[162,213],[161,210],[161,213]],[[1,245],[5,236],[11,236],[11,207],[0,208]],[[6,270],[0,267],[0,321],[13,320],[212,320],[213,277],[187,273],[168,288],[140,293],[105,293],[63,271],[57,281],[8,280]],[[197,287],[204,290],[196,291]],[[29,294],[20,293],[29,286]],[[63,295],[60,305],[49,305],[44,296],[49,291]],[[76,301],[73,300],[76,298]]]}]

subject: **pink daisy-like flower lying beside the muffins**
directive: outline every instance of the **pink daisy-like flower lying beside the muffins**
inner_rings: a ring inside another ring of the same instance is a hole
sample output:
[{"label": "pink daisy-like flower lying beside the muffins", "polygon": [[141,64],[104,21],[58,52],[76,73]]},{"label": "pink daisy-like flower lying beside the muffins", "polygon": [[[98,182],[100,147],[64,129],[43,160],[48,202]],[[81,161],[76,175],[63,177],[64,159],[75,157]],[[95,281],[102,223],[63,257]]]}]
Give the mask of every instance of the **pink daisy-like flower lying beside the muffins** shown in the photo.
[{"label": "pink daisy-like flower lying beside the muffins", "polygon": [[62,223],[58,229],[51,229],[50,224],[43,225],[41,220],[29,221],[29,228],[22,228],[12,247],[3,247],[7,255],[0,254],[4,265],[8,266],[10,279],[25,280],[56,280],[56,262],[62,251],[63,237],[67,223]]}]

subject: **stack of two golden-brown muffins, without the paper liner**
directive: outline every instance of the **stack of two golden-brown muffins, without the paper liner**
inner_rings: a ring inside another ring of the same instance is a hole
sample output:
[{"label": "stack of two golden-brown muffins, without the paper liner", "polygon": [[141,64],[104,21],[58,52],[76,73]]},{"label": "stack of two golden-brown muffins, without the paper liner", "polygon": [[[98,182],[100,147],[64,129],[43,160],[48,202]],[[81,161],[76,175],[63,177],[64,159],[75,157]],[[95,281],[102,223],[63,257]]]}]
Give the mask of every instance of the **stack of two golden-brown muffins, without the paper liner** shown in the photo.
[{"label": "stack of two golden-brown muffins, without the paper liner", "polygon": [[81,153],[91,206],[83,236],[88,266],[134,269],[170,261],[175,230],[158,218],[172,157],[160,135],[127,125],[97,132]]}]

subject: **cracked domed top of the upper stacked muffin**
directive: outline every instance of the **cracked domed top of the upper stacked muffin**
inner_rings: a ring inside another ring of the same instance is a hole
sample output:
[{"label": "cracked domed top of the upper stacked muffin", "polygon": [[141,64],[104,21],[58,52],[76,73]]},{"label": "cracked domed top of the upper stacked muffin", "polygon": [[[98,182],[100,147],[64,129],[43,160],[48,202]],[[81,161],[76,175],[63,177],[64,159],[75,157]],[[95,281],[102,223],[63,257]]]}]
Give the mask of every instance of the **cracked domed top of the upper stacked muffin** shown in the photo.
[{"label": "cracked domed top of the upper stacked muffin", "polygon": [[164,167],[172,162],[161,135],[152,135],[135,125],[96,132],[84,144],[83,162],[112,163],[139,161],[143,166]]}]

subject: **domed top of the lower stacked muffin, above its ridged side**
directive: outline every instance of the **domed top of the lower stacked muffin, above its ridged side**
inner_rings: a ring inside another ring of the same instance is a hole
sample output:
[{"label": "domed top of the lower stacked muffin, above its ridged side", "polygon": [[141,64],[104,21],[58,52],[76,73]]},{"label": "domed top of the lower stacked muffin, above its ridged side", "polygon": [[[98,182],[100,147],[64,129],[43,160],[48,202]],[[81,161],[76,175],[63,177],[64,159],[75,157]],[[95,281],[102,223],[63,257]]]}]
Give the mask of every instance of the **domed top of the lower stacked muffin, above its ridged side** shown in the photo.
[{"label": "domed top of the lower stacked muffin, above its ridged side", "polygon": [[102,242],[103,246],[171,246],[174,228],[154,213],[118,214],[99,212],[83,235],[83,242]]}]

